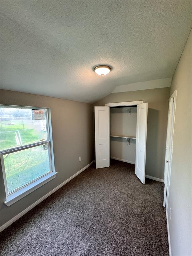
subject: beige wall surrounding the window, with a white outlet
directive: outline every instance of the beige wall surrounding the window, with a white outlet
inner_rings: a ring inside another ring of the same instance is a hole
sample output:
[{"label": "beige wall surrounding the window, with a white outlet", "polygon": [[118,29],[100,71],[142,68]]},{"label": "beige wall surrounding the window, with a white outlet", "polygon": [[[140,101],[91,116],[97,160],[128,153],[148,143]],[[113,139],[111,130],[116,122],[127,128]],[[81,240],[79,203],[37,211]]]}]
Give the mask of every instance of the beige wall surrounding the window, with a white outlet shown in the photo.
[{"label": "beige wall surrounding the window, with a white outlet", "polygon": [[6,90],[0,90],[0,104],[51,108],[55,170],[58,172],[55,179],[9,207],[3,203],[5,191],[0,172],[1,226],[93,161],[93,105]]}]

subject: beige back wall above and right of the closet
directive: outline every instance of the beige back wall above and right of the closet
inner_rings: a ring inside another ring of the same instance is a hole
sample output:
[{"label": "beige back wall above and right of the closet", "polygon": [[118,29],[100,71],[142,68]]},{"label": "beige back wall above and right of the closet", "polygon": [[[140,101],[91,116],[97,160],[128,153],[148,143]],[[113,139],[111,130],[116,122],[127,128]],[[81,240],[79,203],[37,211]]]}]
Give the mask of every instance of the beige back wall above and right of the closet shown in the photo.
[{"label": "beige back wall above and right of the closet", "polygon": [[170,88],[111,93],[94,106],[105,103],[138,101],[148,102],[146,174],[164,178],[165,144]]}]

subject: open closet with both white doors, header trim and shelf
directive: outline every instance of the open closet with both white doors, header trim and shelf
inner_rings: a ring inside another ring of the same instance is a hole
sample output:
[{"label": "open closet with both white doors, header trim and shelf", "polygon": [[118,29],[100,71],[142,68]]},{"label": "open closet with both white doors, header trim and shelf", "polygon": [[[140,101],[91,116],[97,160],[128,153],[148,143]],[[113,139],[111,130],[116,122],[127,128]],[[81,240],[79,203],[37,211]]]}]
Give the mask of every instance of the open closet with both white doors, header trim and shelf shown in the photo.
[{"label": "open closet with both white doors, header trim and shelf", "polygon": [[145,184],[148,103],[107,103],[95,107],[96,168],[109,167],[110,158],[135,164],[135,174]]}]

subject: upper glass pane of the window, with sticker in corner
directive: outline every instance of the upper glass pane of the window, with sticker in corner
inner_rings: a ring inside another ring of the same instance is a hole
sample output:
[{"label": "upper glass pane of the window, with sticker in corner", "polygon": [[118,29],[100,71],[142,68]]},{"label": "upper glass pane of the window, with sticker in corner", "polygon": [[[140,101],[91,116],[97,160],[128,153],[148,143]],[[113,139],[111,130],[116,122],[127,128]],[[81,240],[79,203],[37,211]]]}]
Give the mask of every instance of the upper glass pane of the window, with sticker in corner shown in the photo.
[{"label": "upper glass pane of the window, with sticker in corner", "polygon": [[47,140],[45,110],[0,107],[0,150]]}]

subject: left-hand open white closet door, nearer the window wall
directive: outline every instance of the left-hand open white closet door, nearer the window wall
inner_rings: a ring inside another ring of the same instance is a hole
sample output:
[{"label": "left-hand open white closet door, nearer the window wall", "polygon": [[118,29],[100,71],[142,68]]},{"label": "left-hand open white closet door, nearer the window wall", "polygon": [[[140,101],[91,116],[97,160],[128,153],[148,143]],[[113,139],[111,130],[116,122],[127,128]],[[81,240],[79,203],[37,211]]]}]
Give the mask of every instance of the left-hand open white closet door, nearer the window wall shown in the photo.
[{"label": "left-hand open white closet door, nearer the window wall", "polygon": [[110,165],[110,110],[95,107],[95,162],[96,168]]}]

